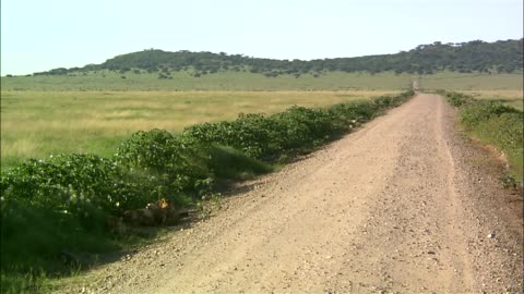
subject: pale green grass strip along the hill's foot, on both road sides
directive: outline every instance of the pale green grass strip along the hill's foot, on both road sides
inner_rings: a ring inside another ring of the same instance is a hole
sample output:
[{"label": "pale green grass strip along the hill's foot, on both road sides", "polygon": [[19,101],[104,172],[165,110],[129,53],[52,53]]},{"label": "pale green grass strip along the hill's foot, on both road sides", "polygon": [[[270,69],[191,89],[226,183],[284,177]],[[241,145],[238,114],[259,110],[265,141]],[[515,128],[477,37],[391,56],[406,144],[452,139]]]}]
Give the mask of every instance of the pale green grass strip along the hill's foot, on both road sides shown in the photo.
[{"label": "pale green grass strip along the hill's foot, on both road sides", "polygon": [[[57,76],[1,77],[2,90],[400,90],[409,88],[417,74],[329,72],[266,77],[249,72],[221,72],[193,77],[191,71],[172,72],[171,79],[157,73],[119,74],[109,71]],[[122,78],[124,76],[126,78]],[[424,89],[522,90],[522,73],[487,74],[440,72],[421,76]]]}]

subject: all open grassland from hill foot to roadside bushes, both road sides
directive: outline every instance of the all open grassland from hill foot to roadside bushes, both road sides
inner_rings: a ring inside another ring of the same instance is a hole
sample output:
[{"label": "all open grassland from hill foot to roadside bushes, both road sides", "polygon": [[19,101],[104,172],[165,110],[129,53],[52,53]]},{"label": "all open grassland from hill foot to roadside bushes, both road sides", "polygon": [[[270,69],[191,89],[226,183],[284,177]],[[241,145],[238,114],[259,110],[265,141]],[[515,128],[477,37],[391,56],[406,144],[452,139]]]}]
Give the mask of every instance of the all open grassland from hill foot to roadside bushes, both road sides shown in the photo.
[{"label": "all open grassland from hill foot to roadside bushes, both road sides", "polygon": [[[63,76],[1,77],[2,169],[28,157],[60,152],[108,156],[123,138],[154,127],[230,120],[240,112],[274,113],[294,105],[322,107],[407,88],[416,75],[330,72],[265,77],[225,72],[193,77],[174,72],[109,71]],[[522,109],[522,74],[441,72],[420,77],[422,89],[458,90]]]}]

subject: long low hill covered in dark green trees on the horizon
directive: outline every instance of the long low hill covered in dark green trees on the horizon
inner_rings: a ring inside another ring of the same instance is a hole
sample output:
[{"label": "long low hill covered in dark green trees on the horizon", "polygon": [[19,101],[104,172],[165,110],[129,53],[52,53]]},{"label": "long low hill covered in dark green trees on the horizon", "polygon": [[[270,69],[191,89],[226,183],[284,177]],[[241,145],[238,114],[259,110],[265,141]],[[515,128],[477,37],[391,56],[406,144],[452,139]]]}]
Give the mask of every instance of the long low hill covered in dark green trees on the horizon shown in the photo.
[{"label": "long low hill covered in dark green trees on the horizon", "polygon": [[275,60],[227,54],[225,52],[168,52],[148,49],[117,56],[102,64],[83,68],[53,69],[34,75],[66,75],[76,72],[109,70],[121,74],[158,72],[158,78],[170,78],[171,72],[190,70],[193,76],[218,72],[251,72],[267,77],[278,75],[321,74],[325,72],[395,72],[408,74],[431,74],[439,71],[460,73],[513,73],[523,68],[523,39],[485,42],[474,40],[460,44],[436,41],[420,45],[409,51],[395,54],[367,56],[303,60]]}]

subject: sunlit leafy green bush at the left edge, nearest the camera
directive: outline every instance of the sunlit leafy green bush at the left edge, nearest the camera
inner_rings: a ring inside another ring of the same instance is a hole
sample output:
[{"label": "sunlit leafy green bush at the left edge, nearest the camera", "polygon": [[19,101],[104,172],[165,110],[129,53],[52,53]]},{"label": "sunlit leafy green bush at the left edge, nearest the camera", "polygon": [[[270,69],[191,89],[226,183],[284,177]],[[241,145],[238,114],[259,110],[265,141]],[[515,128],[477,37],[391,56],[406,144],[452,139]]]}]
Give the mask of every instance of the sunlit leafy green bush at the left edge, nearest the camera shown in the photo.
[{"label": "sunlit leafy green bush at the left edge, nearest the camera", "polygon": [[114,179],[116,162],[96,155],[59,155],[48,160],[31,159],[2,174],[4,199],[37,208],[84,216],[86,211],[111,211],[118,201]]}]

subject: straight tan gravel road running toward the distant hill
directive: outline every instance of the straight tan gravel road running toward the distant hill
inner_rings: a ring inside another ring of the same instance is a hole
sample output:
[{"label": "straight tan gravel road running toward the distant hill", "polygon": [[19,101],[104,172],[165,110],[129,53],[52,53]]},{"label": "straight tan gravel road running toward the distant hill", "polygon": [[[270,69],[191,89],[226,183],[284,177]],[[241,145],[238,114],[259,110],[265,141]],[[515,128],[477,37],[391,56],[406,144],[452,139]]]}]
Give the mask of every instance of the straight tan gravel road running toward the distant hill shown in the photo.
[{"label": "straight tan gravel road running toward the distant hill", "polygon": [[[520,293],[522,197],[418,95],[95,271],[109,293]],[[86,291],[87,292],[87,291]]]}]

